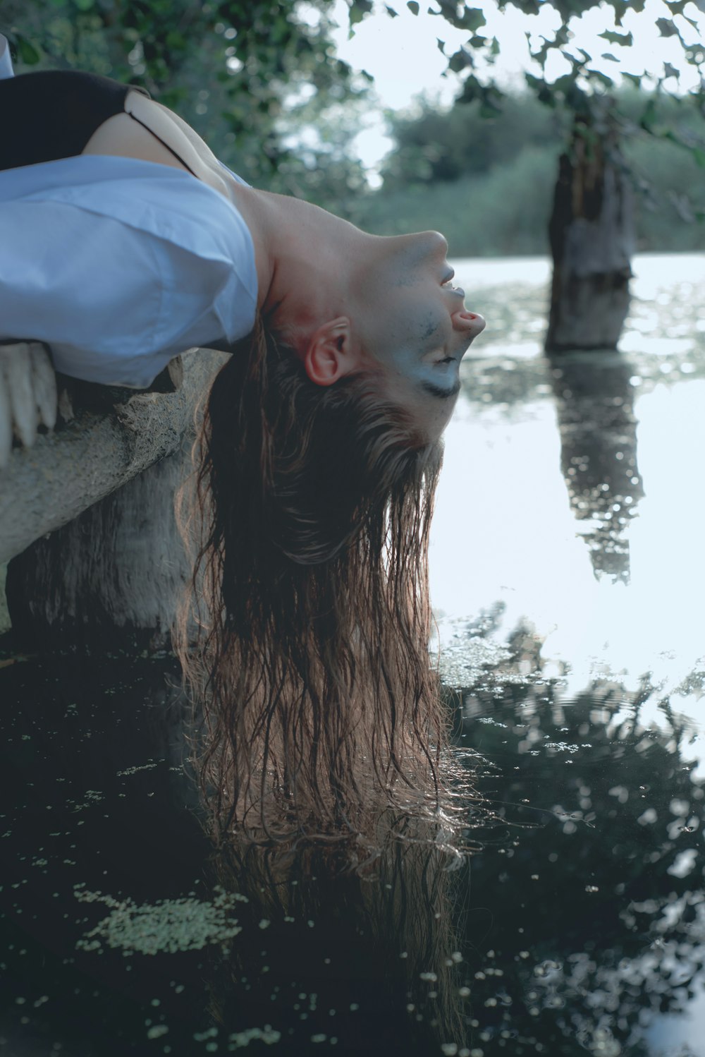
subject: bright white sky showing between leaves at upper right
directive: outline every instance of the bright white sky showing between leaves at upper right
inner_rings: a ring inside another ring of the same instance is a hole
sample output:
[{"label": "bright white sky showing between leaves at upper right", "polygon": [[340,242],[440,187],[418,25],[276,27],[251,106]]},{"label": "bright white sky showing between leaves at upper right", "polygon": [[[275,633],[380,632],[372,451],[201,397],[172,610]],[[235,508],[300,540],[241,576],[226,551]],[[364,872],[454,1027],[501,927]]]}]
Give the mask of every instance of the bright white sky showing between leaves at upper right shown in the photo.
[{"label": "bright white sky showing between leaves at upper right", "polygon": [[[442,76],[445,59],[437,48],[436,39],[441,37],[445,41],[445,51],[451,55],[465,43],[468,33],[453,30],[443,18],[427,14],[428,0],[422,0],[417,16],[408,11],[405,0],[387,2],[399,12],[398,18],[390,18],[384,11],[382,0],[376,0],[374,13],[356,26],[355,36],[348,39],[347,4],[345,0],[339,0],[338,54],[354,68],[373,74],[383,107],[405,109],[421,93],[440,104],[450,104],[460,82],[452,74],[445,78]],[[514,10],[502,15],[494,0],[471,0],[469,6],[482,6],[488,24],[479,33],[488,37],[496,36],[499,40],[501,51],[494,68],[496,79],[506,87],[522,87],[523,71],[532,68],[526,33],[532,34],[534,45],[540,43],[541,35],[552,37],[560,24],[556,12],[548,3],[539,15],[534,16]],[[705,8],[705,0],[700,0],[700,7]],[[698,20],[701,32],[705,33],[705,17],[694,2],[687,4],[684,14]],[[678,38],[662,37],[655,24],[658,18],[670,17],[663,0],[647,0],[643,14],[630,11],[625,15],[623,25],[615,27],[612,7],[603,4],[571,23],[575,33],[571,48],[584,48],[593,56],[592,64],[612,77],[615,77],[620,66],[629,73],[646,71],[659,76],[663,74],[665,61],[677,68],[683,67]],[[696,42],[696,30],[683,18],[677,17],[675,22],[686,41]],[[598,34],[614,29],[620,33],[631,32],[634,39],[632,47],[620,48],[599,39]],[[606,52],[614,55],[620,63],[599,57]],[[555,55],[547,64],[547,76],[553,79],[568,69],[568,61]],[[538,73],[538,68],[534,67],[533,72]],[[681,90],[692,88],[696,80],[696,71],[688,70],[681,78]],[[678,88],[674,79],[667,87],[671,90]],[[381,113],[370,110],[366,128],[357,137],[357,147],[373,180],[376,166],[390,146]]]}]

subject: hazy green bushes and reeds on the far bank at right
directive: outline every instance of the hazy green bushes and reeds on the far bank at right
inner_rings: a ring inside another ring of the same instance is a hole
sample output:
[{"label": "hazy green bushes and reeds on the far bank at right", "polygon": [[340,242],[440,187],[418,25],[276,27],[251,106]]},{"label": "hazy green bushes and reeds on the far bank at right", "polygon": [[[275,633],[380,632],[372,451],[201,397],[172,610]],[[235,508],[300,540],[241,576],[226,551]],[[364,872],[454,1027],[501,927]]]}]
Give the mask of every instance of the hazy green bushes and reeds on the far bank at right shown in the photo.
[{"label": "hazy green bushes and reeds on the far bank at right", "polygon": [[[647,98],[635,88],[615,95],[629,132],[623,151],[635,191],[636,247],[702,249],[696,218],[705,210],[703,171],[677,143],[640,127]],[[702,133],[694,111],[667,98],[661,107],[664,126],[684,135]],[[396,146],[380,190],[350,201],[356,222],[384,234],[438,227],[452,233],[456,256],[548,252],[555,159],[571,128],[565,111],[525,92],[506,96],[491,117],[477,101],[456,103],[447,111],[426,104],[413,116],[389,117]]]}]

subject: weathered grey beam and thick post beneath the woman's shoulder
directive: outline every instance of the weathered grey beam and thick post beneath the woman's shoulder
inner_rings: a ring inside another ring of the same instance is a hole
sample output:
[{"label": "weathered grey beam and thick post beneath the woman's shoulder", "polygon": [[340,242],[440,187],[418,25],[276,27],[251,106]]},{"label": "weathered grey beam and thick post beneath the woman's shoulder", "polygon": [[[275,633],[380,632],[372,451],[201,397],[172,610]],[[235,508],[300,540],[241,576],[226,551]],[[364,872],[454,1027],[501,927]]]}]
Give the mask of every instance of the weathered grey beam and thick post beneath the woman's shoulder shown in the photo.
[{"label": "weathered grey beam and thick post beneath the woman's shoulder", "polygon": [[77,384],[73,419],[15,448],[0,471],[0,632],[26,649],[169,648],[190,572],[174,493],[225,361],[184,354],[175,392]]}]

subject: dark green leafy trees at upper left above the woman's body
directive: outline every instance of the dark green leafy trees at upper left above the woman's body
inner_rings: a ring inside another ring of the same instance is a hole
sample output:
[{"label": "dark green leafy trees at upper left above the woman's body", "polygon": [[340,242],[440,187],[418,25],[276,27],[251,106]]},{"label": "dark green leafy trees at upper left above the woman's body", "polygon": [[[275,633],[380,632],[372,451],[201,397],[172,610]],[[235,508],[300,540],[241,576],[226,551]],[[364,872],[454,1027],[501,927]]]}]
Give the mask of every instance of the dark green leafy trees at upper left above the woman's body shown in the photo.
[{"label": "dark green leafy trees at upper left above the woman's body", "polygon": [[[292,127],[335,127],[368,80],[338,59],[334,0],[3,0],[18,72],[78,68],[141,85],[178,111],[226,164],[269,190],[325,204],[364,178],[325,142],[305,156]],[[286,116],[286,120],[284,117]],[[330,177],[329,181],[326,180]]]}]

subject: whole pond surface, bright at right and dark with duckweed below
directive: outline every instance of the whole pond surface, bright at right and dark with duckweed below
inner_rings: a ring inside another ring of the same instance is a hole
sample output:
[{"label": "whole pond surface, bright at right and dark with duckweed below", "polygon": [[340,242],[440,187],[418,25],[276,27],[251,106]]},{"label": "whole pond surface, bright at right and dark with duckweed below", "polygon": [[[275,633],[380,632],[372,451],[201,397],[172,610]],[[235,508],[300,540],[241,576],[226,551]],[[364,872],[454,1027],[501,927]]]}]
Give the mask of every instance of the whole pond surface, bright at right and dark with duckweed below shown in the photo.
[{"label": "whole pond surface, bright at right and dark with duckweed below", "polygon": [[473,854],[215,858],[168,660],[6,653],[0,1054],[705,1055],[705,256],[637,258],[623,355],[555,363],[546,261],[453,263],[488,318],[432,550]]}]

